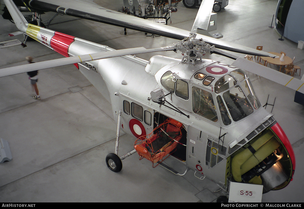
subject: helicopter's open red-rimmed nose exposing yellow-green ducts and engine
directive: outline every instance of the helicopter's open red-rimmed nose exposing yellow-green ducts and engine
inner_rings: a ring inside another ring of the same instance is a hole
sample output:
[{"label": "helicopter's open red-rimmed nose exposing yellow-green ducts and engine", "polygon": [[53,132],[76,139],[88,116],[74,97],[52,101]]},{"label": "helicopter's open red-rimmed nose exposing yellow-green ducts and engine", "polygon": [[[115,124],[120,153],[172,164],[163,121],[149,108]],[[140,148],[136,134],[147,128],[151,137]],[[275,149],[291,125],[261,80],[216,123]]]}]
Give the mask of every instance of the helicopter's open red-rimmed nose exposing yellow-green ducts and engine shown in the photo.
[{"label": "helicopter's open red-rimmed nose exposing yellow-green ducts and engine", "polygon": [[294,171],[292,146],[277,122],[231,156],[233,180],[263,185],[263,193],[286,187]]}]

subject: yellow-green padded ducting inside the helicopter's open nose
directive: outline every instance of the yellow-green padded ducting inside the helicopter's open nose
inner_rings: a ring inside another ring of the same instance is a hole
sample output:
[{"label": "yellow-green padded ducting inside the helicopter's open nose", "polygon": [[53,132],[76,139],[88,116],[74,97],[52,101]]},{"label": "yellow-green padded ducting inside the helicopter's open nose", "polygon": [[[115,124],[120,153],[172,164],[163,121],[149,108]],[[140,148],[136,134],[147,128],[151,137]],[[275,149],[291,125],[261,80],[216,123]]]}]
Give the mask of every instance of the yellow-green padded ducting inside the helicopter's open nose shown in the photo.
[{"label": "yellow-green padded ducting inside the helicopter's open nose", "polygon": [[[273,136],[274,136],[274,134],[271,131],[266,132],[265,134],[261,135],[259,139],[257,139],[255,142],[253,142],[251,144],[252,148],[254,150],[258,151],[258,149],[261,148]],[[275,140],[275,139],[273,139],[273,140]],[[265,146],[265,148],[263,148],[263,150],[269,149],[269,152],[270,151],[273,152],[275,150],[272,148],[272,147],[274,147],[274,146],[272,146],[273,143],[274,142],[271,141],[270,145]],[[270,155],[271,152],[268,155]],[[255,155],[256,155],[256,153],[257,152],[255,152]],[[248,171],[248,168],[250,170],[251,168],[256,166],[258,163],[260,163],[259,159],[261,159],[264,156],[264,154],[263,153],[259,154],[259,152],[258,152],[257,155],[259,155],[258,158],[253,156],[252,152],[248,148],[246,148],[242,152],[238,153],[236,156],[233,157],[233,159],[231,161],[231,171],[232,171],[232,176],[233,176],[234,180],[236,180],[237,182],[241,182],[242,181],[241,175],[245,173],[244,170]],[[268,155],[266,155],[264,158],[266,158]],[[246,161],[250,157],[252,157],[252,159],[250,159],[247,163]],[[245,162],[246,162],[246,164],[244,164]],[[243,166],[242,169],[241,169],[241,166]],[[244,172],[244,173],[242,173],[242,172]]]}]

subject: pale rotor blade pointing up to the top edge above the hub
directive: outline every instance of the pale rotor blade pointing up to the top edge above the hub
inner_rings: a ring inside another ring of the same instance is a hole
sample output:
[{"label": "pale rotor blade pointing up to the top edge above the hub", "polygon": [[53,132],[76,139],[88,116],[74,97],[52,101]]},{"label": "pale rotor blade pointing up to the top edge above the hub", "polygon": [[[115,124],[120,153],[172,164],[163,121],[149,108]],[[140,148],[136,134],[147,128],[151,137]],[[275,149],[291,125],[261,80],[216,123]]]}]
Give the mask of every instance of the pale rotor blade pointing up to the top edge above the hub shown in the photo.
[{"label": "pale rotor blade pointing up to the top edge above the hub", "polygon": [[213,4],[213,0],[202,1],[195,17],[191,33],[196,33],[198,28],[203,30],[208,29]]}]

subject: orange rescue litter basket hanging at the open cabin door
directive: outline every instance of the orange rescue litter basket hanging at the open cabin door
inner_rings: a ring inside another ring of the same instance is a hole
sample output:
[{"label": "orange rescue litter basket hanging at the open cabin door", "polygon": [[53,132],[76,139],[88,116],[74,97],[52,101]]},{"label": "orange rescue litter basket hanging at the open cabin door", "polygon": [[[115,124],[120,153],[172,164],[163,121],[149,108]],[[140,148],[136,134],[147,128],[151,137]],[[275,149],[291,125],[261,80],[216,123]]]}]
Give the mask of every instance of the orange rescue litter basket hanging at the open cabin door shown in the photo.
[{"label": "orange rescue litter basket hanging at the open cabin door", "polygon": [[[168,118],[145,138],[138,138],[134,143],[134,148],[140,160],[146,158],[152,162],[153,167],[156,167],[176,150],[182,136],[182,127],[182,123]],[[154,166],[154,163],[157,164]]]}]

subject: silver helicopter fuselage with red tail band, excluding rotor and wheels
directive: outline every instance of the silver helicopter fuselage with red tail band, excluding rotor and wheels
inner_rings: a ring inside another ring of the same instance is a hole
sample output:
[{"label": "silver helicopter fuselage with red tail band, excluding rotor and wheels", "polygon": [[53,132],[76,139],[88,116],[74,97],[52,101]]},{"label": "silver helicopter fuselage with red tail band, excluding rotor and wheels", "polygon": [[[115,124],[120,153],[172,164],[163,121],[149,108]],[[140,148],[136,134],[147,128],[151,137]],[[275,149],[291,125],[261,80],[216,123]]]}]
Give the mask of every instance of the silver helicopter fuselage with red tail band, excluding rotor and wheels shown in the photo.
[{"label": "silver helicopter fuselage with red tail band, excluding rotor and wheels", "polygon": [[[5,3],[19,30],[65,57],[114,50],[28,24],[11,1]],[[226,188],[230,180],[263,184],[266,191],[292,180],[290,142],[261,107],[243,70],[201,58],[187,62],[154,56],[147,61],[130,55],[75,66],[109,100],[116,120],[121,113],[119,126],[135,138],[153,131],[155,113],[181,122],[186,130],[183,161],[197,175]],[[151,99],[157,89],[174,108]]]}]

